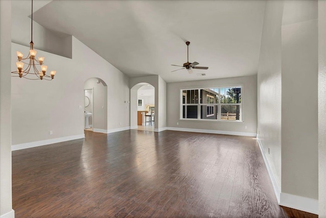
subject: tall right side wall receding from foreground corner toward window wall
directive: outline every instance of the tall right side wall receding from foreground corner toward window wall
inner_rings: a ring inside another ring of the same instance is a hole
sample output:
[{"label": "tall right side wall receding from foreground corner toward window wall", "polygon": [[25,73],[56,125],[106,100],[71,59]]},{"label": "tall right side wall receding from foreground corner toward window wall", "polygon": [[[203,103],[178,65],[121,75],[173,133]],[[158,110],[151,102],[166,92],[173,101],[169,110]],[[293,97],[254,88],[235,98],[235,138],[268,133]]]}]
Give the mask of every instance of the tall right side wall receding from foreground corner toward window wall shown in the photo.
[{"label": "tall right side wall receding from foreground corner toward window wall", "polygon": [[[258,139],[281,192],[281,24],[283,1],[266,1],[257,73]],[[269,154],[268,154],[269,148]]]}]

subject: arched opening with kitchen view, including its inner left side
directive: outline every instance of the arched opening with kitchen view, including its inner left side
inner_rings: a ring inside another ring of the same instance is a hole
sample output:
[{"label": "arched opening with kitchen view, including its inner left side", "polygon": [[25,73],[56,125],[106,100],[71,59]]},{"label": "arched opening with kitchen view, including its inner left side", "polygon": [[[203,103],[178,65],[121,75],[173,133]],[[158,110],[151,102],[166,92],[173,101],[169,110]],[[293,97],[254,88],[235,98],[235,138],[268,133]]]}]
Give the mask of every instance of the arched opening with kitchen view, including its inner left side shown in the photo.
[{"label": "arched opening with kitchen view, including its inner left side", "polygon": [[139,83],[130,90],[130,120],[135,121],[132,129],[154,131],[155,87]]}]

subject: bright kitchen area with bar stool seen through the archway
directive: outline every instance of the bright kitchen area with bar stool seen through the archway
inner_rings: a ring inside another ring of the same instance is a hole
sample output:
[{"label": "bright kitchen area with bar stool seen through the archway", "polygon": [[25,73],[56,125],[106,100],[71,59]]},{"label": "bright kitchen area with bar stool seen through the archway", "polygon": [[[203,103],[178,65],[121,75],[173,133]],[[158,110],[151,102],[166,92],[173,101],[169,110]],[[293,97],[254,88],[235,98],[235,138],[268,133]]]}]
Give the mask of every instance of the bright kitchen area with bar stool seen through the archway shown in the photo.
[{"label": "bright kitchen area with bar stool seen through the archway", "polygon": [[137,97],[138,130],[154,131],[155,88],[150,84],[144,84],[138,89]]}]

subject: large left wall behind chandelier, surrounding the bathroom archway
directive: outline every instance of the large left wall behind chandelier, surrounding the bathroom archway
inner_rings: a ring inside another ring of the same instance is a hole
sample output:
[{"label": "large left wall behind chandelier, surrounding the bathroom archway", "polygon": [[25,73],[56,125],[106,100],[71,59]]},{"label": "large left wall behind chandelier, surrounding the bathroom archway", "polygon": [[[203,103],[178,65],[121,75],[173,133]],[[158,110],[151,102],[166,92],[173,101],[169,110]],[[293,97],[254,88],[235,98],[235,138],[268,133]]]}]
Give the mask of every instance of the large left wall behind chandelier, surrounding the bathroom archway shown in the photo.
[{"label": "large left wall behind chandelier, surrounding the bathroom archway", "polygon": [[[28,47],[12,43],[12,59],[16,50],[24,52]],[[125,74],[74,37],[72,59],[41,50],[38,55],[44,56],[48,69],[57,70],[57,74],[52,81],[12,78],[13,145],[83,135],[84,83],[91,77],[107,84],[107,128],[129,127],[129,106],[124,103],[129,99],[129,81]],[[15,68],[12,63],[12,70]]]}]

